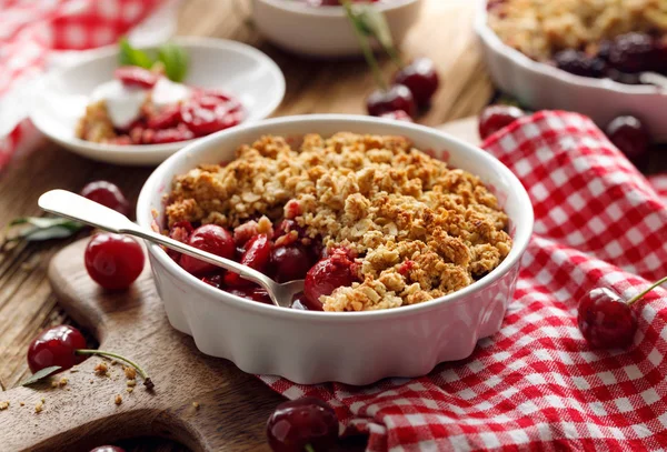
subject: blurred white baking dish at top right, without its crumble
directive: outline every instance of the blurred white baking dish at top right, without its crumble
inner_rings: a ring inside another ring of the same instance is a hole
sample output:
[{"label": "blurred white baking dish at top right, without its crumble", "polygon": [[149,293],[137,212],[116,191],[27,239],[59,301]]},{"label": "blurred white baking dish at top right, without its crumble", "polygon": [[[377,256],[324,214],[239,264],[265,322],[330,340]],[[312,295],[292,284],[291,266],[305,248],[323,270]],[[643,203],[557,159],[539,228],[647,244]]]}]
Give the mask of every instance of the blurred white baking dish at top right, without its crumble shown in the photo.
[{"label": "blurred white baking dish at top right, without its crumble", "polygon": [[605,127],[620,114],[643,120],[656,140],[667,139],[667,96],[657,87],[575,76],[531,60],[505,44],[487,23],[487,1],[479,1],[475,29],[494,83],[535,109],[568,110]]}]

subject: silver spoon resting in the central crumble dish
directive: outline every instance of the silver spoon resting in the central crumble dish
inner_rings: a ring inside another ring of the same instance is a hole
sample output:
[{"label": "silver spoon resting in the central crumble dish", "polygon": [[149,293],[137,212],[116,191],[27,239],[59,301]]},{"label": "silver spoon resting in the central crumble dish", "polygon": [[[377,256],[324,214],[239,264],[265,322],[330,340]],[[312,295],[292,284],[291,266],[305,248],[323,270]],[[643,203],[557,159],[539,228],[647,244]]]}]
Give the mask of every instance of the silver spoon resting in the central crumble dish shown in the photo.
[{"label": "silver spoon resting in the central crumble dish", "polygon": [[265,288],[269,293],[271,301],[277,307],[289,308],[293,295],[303,291],[303,280],[289,281],[280,284],[250,267],[201,251],[169,237],[140,228],[122,213],[66,190],[51,190],[46,192],[39,198],[38,204],[47,212],[80,221],[109,232],[136,235],[213,265],[222,267],[223,269],[238,273],[242,278]]}]

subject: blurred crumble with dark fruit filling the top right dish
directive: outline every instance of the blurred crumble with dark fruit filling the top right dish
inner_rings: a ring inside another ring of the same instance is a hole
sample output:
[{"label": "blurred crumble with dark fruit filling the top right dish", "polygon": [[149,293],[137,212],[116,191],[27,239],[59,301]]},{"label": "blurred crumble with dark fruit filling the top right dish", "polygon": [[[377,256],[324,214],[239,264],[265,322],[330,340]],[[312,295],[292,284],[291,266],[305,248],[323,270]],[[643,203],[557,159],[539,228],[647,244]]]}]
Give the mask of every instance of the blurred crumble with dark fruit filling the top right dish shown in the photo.
[{"label": "blurred crumble with dark fruit filling the top right dish", "polygon": [[664,0],[489,0],[489,27],[507,46],[577,76],[639,83],[667,73]]}]

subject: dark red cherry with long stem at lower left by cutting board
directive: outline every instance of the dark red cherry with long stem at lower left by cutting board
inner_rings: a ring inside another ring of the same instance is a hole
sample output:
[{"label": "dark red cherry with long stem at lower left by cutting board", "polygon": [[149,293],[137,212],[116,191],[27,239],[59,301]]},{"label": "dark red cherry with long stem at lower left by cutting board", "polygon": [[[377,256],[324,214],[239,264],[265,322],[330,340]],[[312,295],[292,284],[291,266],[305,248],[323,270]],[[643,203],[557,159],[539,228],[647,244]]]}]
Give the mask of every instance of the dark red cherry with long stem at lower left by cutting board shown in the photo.
[{"label": "dark red cherry with long stem at lower left by cutting board", "polygon": [[53,327],[30,343],[28,365],[32,373],[52,365],[70,369],[87,358],[76,354],[78,349],[86,349],[86,339],[79,330],[70,325]]}]

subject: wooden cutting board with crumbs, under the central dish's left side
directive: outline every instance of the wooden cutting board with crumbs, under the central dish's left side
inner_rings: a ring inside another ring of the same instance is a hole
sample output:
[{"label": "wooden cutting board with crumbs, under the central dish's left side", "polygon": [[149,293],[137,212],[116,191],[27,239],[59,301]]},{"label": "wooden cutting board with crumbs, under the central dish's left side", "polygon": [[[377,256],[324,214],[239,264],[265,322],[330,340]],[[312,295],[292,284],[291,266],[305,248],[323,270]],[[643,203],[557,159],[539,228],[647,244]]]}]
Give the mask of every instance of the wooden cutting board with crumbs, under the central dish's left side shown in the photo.
[{"label": "wooden cutting board with crumbs, under the central dish's left side", "polygon": [[[476,128],[475,120],[444,127],[474,142]],[[51,260],[53,292],[98,338],[100,350],[140,363],[156,388],[148,391],[139,380],[130,393],[122,365],[99,376],[94,368],[103,360],[92,356],[39,384],[2,392],[0,402],[10,405],[0,411],[0,451],[89,451],[139,435],[166,436],[196,451],[268,450],[266,420],[282,398],[231,362],[200,353],[190,337],[172,329],[148,265],[128,291],[98,287],[83,267],[87,243],[74,242]],[[61,378],[67,384],[52,388]]]}]

